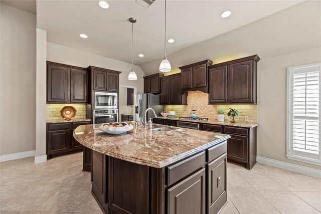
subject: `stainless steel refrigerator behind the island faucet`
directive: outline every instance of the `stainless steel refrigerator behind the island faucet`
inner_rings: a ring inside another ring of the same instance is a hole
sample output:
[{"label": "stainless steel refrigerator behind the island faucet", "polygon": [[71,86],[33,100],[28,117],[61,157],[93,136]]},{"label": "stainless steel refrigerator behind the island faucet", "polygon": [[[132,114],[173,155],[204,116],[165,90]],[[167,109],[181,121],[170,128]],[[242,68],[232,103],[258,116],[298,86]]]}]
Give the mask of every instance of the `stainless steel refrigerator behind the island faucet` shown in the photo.
[{"label": "stainless steel refrigerator behind the island faucet", "polygon": [[[164,111],[164,105],[159,105],[159,95],[154,94],[137,94],[137,106],[135,108],[136,120],[144,121],[145,110],[147,108],[152,108],[157,116],[161,116],[161,112]],[[146,121],[149,117],[154,117],[152,111],[147,112]]]}]

